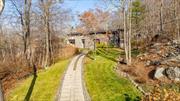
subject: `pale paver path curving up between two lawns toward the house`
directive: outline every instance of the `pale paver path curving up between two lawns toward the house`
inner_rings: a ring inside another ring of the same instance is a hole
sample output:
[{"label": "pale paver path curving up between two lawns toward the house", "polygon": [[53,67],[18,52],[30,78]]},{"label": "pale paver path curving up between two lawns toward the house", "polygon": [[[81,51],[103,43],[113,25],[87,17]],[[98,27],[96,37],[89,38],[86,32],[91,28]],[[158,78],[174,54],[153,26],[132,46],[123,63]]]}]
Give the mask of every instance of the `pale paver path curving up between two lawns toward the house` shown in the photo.
[{"label": "pale paver path curving up between two lawns toward the house", "polygon": [[82,82],[83,58],[82,54],[75,56],[69,64],[58,101],[85,101]]}]

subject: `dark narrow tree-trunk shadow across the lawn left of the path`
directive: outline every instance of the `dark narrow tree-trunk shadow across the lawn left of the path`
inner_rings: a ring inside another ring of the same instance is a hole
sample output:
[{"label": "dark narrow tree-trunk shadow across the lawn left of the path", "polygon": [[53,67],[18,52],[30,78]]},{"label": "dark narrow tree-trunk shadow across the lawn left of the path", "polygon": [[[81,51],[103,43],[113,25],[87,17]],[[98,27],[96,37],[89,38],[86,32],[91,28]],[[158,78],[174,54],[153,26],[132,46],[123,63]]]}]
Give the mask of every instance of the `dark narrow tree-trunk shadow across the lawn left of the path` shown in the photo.
[{"label": "dark narrow tree-trunk shadow across the lawn left of the path", "polygon": [[33,92],[33,89],[34,89],[34,85],[36,83],[36,79],[37,79],[37,75],[34,75],[32,81],[31,81],[31,85],[28,89],[28,92],[26,94],[26,97],[24,98],[24,101],[29,101],[30,100],[30,97],[31,97],[31,94]]}]

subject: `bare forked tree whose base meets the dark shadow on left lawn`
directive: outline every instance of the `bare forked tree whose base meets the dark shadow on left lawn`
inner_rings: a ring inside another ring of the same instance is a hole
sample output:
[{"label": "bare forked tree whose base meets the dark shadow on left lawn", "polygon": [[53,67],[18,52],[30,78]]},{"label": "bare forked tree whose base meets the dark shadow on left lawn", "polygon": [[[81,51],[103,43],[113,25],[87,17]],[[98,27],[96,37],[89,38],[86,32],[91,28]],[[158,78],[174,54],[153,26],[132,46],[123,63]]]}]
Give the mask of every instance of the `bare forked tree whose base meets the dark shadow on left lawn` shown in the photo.
[{"label": "bare forked tree whose base meets the dark shadow on left lawn", "polygon": [[32,66],[31,60],[31,47],[30,47],[30,13],[31,13],[31,4],[32,0],[24,0],[23,1],[23,10],[18,8],[18,3],[15,0],[11,0],[13,6],[20,16],[21,27],[22,27],[22,38],[24,42],[24,54],[27,60],[28,65]]}]

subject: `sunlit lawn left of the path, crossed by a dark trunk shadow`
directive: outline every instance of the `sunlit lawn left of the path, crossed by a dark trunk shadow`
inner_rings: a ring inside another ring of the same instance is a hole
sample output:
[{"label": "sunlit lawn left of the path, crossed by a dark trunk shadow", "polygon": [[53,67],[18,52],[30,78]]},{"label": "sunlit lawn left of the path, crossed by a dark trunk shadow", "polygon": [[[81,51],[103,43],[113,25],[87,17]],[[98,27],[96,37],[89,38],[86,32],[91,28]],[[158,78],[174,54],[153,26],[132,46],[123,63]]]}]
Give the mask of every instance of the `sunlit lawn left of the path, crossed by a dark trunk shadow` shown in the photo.
[{"label": "sunlit lawn left of the path, crossed by a dark trunk shadow", "polygon": [[59,61],[39,72],[37,77],[31,76],[18,83],[8,94],[7,101],[54,101],[68,63],[69,60]]}]

